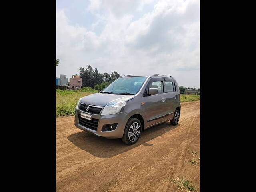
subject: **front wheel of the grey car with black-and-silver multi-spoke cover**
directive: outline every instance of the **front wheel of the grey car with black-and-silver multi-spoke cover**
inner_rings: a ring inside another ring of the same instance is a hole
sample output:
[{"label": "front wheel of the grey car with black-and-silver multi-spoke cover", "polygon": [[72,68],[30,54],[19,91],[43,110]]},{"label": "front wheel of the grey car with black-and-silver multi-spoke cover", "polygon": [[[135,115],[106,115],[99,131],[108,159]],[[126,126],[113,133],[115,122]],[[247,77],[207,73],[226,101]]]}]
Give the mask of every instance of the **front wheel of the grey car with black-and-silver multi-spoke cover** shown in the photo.
[{"label": "front wheel of the grey car with black-and-silver multi-spoke cover", "polygon": [[122,141],[127,145],[135,144],[140,138],[142,130],[140,120],[136,118],[130,118],[124,128],[124,135]]}]

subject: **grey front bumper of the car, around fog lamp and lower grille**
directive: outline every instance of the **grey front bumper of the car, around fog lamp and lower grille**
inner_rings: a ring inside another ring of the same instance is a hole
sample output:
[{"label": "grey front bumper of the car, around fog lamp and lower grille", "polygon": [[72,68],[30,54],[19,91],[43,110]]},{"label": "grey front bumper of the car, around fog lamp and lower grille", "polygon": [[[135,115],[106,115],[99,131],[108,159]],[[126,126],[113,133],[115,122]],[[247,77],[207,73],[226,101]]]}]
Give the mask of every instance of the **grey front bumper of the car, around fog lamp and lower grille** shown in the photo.
[{"label": "grey front bumper of the car, around fog lamp and lower grille", "polygon": [[[126,122],[128,120],[128,119],[126,119],[127,114],[125,112],[120,112],[120,113],[112,114],[112,115],[102,115],[102,116],[88,113],[92,116],[92,118],[99,120],[97,130],[92,130],[88,127],[85,127],[85,126],[82,126],[81,124],[79,124],[78,114],[80,114],[80,113],[81,113],[80,110],[76,109],[76,111],[75,111],[75,126],[77,128],[84,130],[86,132],[95,134],[97,136],[102,136],[102,137],[106,137],[106,138],[110,138],[110,139],[122,138],[122,136],[124,134],[124,128],[125,128]],[[83,112],[83,113],[85,113],[85,112]],[[102,127],[104,125],[112,124],[112,123],[118,123],[115,130],[102,132]]]}]

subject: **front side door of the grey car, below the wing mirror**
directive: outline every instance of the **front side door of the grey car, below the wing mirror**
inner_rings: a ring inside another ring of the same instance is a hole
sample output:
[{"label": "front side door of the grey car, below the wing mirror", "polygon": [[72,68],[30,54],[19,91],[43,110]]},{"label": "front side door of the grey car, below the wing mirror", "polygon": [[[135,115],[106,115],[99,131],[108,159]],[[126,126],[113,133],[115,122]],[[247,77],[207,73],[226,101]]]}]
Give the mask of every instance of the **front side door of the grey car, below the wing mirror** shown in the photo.
[{"label": "front side door of the grey car, below the wing mirror", "polygon": [[[158,88],[158,94],[148,96],[150,87]],[[152,78],[148,82],[144,94],[146,109],[146,126],[156,124],[166,119],[166,96],[164,94],[164,78]]]}]

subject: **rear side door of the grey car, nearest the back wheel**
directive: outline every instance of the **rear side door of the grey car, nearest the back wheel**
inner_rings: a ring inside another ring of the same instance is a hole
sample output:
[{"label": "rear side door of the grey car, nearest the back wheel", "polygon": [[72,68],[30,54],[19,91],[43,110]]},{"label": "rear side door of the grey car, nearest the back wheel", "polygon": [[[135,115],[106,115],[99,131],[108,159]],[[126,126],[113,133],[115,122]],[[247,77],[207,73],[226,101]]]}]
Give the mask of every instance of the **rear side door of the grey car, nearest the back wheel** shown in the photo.
[{"label": "rear side door of the grey car, nearest the back wheel", "polygon": [[178,100],[178,92],[174,80],[164,78],[164,94],[166,95],[166,116],[168,119],[173,118],[176,102]]}]

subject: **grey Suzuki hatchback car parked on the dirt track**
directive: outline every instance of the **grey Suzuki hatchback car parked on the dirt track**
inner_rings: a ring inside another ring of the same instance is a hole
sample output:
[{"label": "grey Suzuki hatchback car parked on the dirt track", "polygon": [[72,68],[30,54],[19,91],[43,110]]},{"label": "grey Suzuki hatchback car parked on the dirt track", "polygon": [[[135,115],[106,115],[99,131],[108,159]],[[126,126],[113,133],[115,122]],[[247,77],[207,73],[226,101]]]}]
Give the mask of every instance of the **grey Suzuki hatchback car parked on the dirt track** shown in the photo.
[{"label": "grey Suzuki hatchback car parked on the dirt track", "polygon": [[180,90],[172,76],[121,76],[99,93],[78,100],[77,128],[106,138],[138,141],[141,132],[180,118]]}]

